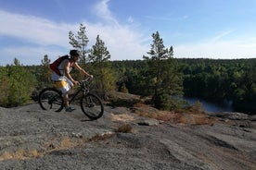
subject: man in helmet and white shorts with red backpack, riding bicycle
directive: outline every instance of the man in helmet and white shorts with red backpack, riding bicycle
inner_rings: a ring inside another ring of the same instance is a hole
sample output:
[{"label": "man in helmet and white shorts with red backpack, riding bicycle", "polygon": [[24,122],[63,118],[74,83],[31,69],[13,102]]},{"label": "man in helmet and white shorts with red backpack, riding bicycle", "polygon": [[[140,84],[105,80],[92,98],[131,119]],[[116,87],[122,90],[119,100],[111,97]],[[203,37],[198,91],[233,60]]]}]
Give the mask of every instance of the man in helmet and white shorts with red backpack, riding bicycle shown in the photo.
[{"label": "man in helmet and white shorts with red backpack, riding bicycle", "polygon": [[72,112],[75,110],[69,105],[69,91],[71,87],[74,85],[78,85],[79,81],[72,79],[70,76],[70,71],[72,68],[76,68],[81,74],[84,76],[89,76],[93,78],[93,75],[87,73],[82,67],[77,64],[77,60],[79,59],[79,52],[77,50],[70,50],[70,58],[63,59],[59,63],[58,70],[60,75],[56,72],[52,74],[52,80],[56,82],[58,90],[60,90],[63,94],[65,110],[66,112]]}]

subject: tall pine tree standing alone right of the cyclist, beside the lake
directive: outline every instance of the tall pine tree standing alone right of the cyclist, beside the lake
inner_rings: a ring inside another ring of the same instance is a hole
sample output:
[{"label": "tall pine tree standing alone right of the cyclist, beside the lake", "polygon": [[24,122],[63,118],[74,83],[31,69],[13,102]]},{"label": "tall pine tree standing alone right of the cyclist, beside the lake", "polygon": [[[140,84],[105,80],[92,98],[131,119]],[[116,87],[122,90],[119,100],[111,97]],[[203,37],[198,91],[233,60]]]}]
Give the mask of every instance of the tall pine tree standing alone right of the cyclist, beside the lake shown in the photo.
[{"label": "tall pine tree standing alone right of the cyclist, beside the lake", "polygon": [[173,46],[165,48],[160,34],[152,34],[151,49],[143,58],[148,65],[148,85],[154,88],[153,103],[161,109],[173,109],[178,106],[172,95],[182,94],[182,76],[173,60]]}]

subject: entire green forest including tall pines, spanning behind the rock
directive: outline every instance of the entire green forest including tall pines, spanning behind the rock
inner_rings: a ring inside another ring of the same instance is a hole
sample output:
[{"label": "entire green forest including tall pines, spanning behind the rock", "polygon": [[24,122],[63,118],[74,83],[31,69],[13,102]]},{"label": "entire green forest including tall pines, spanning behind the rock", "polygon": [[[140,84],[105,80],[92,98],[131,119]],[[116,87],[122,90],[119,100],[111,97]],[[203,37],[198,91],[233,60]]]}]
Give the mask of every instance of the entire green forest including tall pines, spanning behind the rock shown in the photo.
[{"label": "entire green forest including tall pines, spanning behind the rock", "polygon": [[[91,49],[83,24],[77,34],[70,31],[70,44],[78,49],[79,65],[94,75],[94,90],[104,99],[110,91],[150,96],[152,106],[162,110],[187,106],[180,96],[197,97],[212,103],[230,101],[236,112],[256,113],[256,58],[206,59],[175,58],[173,46],[165,48],[160,33],[152,34],[147,55],[141,60],[111,61],[110,53],[99,35]],[[30,103],[51,81],[48,55],[41,64],[23,66],[17,58],[0,67],[0,106]],[[74,79],[83,79],[74,70]]]}]

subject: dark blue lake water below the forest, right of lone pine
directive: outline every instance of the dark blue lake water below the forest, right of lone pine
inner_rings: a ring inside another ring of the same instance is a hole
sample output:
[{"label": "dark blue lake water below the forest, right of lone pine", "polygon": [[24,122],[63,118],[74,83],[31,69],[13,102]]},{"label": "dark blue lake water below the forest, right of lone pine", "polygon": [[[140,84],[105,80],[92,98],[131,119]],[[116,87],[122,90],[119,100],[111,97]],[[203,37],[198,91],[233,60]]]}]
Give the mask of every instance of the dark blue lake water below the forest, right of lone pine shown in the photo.
[{"label": "dark blue lake water below the forest, right of lone pine", "polygon": [[194,103],[202,103],[202,107],[206,112],[233,112],[232,102],[224,101],[223,103],[211,103],[195,97],[184,97],[184,99],[191,105]]}]

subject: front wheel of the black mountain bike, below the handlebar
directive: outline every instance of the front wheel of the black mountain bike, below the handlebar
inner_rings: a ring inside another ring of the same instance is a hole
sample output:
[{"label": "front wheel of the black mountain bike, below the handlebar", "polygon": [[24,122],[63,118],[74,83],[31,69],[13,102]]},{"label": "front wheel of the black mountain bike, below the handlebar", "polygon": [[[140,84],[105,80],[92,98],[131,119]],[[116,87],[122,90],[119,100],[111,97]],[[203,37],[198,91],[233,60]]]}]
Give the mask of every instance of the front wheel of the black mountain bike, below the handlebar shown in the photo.
[{"label": "front wheel of the black mountain bike, below the handlebar", "polygon": [[96,120],[104,113],[104,107],[101,100],[92,93],[88,93],[81,98],[81,108],[84,115]]}]

